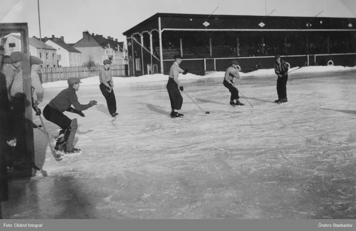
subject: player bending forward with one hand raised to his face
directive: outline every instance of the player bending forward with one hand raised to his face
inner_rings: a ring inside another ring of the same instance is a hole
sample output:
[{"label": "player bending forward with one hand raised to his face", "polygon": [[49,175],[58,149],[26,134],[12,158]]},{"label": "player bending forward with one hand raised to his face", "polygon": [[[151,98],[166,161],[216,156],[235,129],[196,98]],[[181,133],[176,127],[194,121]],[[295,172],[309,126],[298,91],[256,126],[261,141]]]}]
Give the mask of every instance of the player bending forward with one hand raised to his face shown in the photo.
[{"label": "player bending forward with one hand raised to his face", "polygon": [[[225,77],[224,77],[224,81],[223,81],[224,86],[227,89],[229,89],[229,91],[231,93],[230,104],[232,106],[245,105],[244,103],[240,102],[239,90],[235,86],[234,81],[232,81],[234,78],[237,78],[237,79],[240,78],[238,66],[239,66],[239,62],[237,62],[237,60],[232,60],[231,66],[228,67],[225,71]],[[234,102],[234,100],[236,100],[236,103]]]}]

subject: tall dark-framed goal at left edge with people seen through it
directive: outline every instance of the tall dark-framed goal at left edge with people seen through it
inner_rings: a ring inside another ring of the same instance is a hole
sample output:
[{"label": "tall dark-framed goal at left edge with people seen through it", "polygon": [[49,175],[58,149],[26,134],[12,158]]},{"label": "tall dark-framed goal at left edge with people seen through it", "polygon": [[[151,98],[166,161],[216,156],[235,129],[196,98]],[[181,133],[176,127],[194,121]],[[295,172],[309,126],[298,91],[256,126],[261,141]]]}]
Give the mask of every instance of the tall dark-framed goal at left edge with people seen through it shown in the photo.
[{"label": "tall dark-framed goal at left edge with people seen through it", "polygon": [[[2,141],[14,137],[17,140],[16,146],[10,149],[1,142],[7,147],[7,167],[16,172],[17,177],[32,176],[35,156],[30,46],[26,23],[0,24],[0,61],[1,138]],[[11,136],[4,132],[10,130]]]}]

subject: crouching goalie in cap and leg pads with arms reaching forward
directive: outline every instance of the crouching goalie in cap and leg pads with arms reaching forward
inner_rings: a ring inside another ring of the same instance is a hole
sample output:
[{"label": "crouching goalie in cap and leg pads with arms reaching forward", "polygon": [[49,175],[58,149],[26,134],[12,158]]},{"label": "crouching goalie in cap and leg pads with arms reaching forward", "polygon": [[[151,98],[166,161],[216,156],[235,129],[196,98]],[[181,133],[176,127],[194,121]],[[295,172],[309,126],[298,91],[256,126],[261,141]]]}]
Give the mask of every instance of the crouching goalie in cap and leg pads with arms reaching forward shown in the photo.
[{"label": "crouching goalie in cap and leg pads with arms reaching forward", "polygon": [[[80,149],[73,146],[75,132],[78,128],[77,119],[69,119],[63,112],[72,112],[84,117],[82,111],[97,104],[95,100],[91,100],[85,105],[79,103],[78,96],[75,93],[79,90],[79,83],[81,83],[79,78],[69,78],[68,88],[59,92],[43,109],[43,117],[61,128],[59,136],[64,134],[56,142],[54,147],[56,151],[64,153],[80,152]],[[74,108],[71,107],[72,105]]]}]

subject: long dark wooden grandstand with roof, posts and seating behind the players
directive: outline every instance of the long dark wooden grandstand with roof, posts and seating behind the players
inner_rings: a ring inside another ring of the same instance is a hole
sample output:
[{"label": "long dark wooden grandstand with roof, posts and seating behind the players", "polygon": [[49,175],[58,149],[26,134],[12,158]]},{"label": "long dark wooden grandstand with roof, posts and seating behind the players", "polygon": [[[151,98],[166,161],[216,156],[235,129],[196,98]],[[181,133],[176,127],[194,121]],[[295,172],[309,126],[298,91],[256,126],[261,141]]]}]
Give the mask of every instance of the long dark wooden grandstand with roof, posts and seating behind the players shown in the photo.
[{"label": "long dark wooden grandstand with roof, posts and seating behind the players", "polygon": [[169,72],[173,56],[190,73],[224,71],[236,58],[242,72],[273,68],[356,65],[356,19],[157,13],[123,33],[131,76]]}]

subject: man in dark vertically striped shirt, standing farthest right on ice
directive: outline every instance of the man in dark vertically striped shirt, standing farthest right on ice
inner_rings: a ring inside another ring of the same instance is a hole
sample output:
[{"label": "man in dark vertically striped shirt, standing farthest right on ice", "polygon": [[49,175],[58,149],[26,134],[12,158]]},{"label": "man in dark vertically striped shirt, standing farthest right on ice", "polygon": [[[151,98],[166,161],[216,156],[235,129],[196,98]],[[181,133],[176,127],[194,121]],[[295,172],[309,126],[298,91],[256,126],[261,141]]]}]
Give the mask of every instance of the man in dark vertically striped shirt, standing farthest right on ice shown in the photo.
[{"label": "man in dark vertically striped shirt, standing farthest right on ice", "polygon": [[280,55],[275,56],[274,72],[278,76],[277,79],[277,94],[278,99],[275,103],[286,103],[287,100],[287,81],[288,81],[288,66],[284,60],[281,60]]}]

